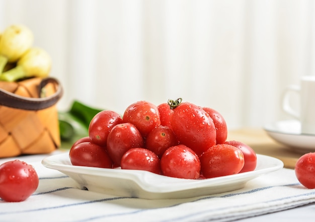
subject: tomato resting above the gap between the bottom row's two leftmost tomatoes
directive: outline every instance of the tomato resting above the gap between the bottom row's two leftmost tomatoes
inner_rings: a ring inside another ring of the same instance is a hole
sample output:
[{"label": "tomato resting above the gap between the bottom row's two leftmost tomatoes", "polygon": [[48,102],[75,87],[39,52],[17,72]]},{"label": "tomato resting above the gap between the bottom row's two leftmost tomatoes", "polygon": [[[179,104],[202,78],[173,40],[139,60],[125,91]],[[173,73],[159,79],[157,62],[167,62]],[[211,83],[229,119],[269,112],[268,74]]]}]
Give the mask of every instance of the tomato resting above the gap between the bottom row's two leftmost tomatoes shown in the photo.
[{"label": "tomato resting above the gap between the bottom row's two leftmost tomatoes", "polygon": [[107,151],[116,166],[131,148],[144,147],[141,133],[132,123],[121,123],[112,128],[107,138]]}]

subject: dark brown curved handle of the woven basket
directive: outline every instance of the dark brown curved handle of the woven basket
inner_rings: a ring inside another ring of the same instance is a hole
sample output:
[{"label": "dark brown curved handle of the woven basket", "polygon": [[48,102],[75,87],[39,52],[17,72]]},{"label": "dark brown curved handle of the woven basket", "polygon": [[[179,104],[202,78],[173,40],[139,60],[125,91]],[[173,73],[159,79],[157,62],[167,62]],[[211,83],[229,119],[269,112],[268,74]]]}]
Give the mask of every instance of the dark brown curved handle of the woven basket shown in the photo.
[{"label": "dark brown curved handle of the woven basket", "polygon": [[40,95],[42,89],[48,83],[55,84],[57,86],[57,90],[53,95],[41,98],[23,97],[0,89],[0,105],[24,110],[41,110],[51,107],[62,97],[63,89],[57,79],[48,77],[40,82],[38,86],[38,95]]}]

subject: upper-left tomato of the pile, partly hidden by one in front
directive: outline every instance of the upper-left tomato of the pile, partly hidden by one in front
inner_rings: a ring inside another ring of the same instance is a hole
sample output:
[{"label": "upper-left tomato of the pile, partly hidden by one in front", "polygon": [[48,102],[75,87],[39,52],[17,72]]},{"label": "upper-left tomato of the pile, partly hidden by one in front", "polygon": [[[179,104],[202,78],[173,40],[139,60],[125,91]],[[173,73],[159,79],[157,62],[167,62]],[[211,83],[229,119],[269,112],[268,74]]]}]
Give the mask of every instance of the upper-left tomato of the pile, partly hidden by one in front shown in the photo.
[{"label": "upper-left tomato of the pile, partly hidden by one in front", "polygon": [[121,116],[111,110],[103,110],[97,113],[90,122],[89,136],[92,142],[105,146],[107,136],[113,126],[122,123]]}]

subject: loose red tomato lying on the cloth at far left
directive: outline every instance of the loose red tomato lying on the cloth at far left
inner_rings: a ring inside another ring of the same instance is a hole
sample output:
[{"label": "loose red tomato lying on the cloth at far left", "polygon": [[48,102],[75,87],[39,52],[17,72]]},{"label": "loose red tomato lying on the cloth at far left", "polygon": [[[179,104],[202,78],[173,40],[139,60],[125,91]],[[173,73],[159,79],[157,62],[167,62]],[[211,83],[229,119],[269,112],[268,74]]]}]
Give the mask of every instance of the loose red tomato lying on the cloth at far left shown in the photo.
[{"label": "loose red tomato lying on the cloth at far left", "polygon": [[37,189],[38,175],[32,165],[8,161],[0,166],[0,197],[8,202],[26,200]]}]

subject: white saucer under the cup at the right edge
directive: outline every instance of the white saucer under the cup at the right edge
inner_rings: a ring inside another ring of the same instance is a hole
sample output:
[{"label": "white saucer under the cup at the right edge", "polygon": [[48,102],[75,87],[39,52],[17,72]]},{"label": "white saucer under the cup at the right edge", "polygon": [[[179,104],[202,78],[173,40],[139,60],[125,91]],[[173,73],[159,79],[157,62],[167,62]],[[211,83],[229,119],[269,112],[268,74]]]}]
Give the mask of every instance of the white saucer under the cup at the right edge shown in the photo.
[{"label": "white saucer under the cup at the right edge", "polygon": [[265,125],[267,134],[274,140],[287,145],[296,152],[315,151],[315,135],[302,134],[301,124],[297,120],[284,120]]}]

